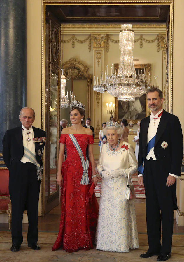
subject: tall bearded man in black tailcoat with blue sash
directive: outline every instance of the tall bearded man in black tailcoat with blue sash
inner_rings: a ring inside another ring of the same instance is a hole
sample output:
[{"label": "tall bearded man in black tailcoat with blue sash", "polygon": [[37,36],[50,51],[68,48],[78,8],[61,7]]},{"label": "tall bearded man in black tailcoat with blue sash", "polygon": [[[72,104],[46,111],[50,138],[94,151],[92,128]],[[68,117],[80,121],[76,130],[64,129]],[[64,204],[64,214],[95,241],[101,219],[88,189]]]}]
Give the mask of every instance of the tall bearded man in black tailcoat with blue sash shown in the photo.
[{"label": "tall bearded man in black tailcoat with blue sash", "polygon": [[[183,136],[177,116],[162,109],[162,91],[147,93],[151,115],[141,120],[139,135],[138,183],[145,187],[149,249],[140,257],[171,257],[173,210],[177,209],[176,179],[181,173]],[[161,211],[161,212],[160,212]],[[162,244],[161,238],[162,219]]]}]

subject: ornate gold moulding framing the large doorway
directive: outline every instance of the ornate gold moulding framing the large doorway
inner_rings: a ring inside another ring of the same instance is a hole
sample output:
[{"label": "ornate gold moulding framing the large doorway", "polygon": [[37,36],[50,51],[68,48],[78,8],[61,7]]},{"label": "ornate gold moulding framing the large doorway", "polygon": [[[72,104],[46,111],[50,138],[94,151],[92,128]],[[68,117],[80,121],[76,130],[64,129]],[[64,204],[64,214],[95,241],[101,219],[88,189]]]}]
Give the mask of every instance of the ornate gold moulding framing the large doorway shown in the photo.
[{"label": "ornate gold moulding framing the large doorway", "polygon": [[[45,126],[45,38],[46,38],[46,22],[45,12],[46,5],[168,5],[170,8],[169,12],[169,23],[167,31],[167,58],[169,63],[167,64],[167,81],[165,93],[168,100],[166,111],[172,113],[172,90],[173,90],[173,7],[174,0],[42,0],[42,99],[41,99],[41,128]],[[90,110],[91,111],[91,110]],[[45,153],[43,156],[45,160]],[[45,162],[43,163],[45,166]],[[45,188],[44,179],[41,182],[41,215],[44,215],[45,206]]]}]

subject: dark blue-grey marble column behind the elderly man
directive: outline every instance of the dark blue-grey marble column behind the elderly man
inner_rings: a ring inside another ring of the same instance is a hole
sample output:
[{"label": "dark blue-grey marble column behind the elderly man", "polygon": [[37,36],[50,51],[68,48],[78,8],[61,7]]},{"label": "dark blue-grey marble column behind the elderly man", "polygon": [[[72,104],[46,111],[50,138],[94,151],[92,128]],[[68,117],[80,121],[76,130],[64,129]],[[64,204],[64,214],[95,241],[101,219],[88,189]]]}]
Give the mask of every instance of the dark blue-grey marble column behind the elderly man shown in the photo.
[{"label": "dark blue-grey marble column behind the elderly man", "polygon": [[6,130],[27,104],[26,0],[0,1],[0,164]]}]

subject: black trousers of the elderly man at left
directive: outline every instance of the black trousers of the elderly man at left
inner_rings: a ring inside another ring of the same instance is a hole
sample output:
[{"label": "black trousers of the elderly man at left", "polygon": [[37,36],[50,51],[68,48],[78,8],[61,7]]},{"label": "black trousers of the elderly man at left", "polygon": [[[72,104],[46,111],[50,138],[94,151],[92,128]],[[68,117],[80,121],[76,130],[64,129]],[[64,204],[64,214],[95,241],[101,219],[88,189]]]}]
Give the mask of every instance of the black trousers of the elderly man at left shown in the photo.
[{"label": "black trousers of the elderly man at left", "polygon": [[10,199],[12,203],[12,243],[22,244],[22,218],[27,210],[29,222],[27,242],[38,241],[38,200],[40,181],[37,180],[36,166],[30,162],[15,162],[10,167]]}]

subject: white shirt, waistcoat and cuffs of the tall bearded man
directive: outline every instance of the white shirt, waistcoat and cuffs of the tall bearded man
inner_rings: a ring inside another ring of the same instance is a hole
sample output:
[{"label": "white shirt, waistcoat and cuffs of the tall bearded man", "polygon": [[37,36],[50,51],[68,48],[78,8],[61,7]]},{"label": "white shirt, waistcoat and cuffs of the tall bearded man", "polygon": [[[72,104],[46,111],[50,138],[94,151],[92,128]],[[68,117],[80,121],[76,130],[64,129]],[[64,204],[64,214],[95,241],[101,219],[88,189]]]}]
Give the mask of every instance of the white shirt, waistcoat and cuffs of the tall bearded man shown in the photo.
[{"label": "white shirt, waistcoat and cuffs of the tall bearded man", "polygon": [[[147,134],[147,144],[149,143],[149,141],[156,135],[157,133],[157,128],[160,122],[160,118],[162,117],[162,115],[160,117],[158,117],[158,115],[163,111],[163,109],[161,109],[156,115],[154,115],[152,112],[150,114],[150,123],[149,123],[149,127],[148,127],[148,134]],[[157,118],[157,119],[154,119]],[[150,158],[152,157],[153,160],[156,160],[155,154],[154,154],[154,146],[150,149],[150,152],[148,153],[148,155],[146,156],[147,160],[150,160]],[[178,178],[178,176],[169,173],[169,175],[174,176],[176,178]],[[138,175],[138,177],[143,176],[142,174]]]}]

